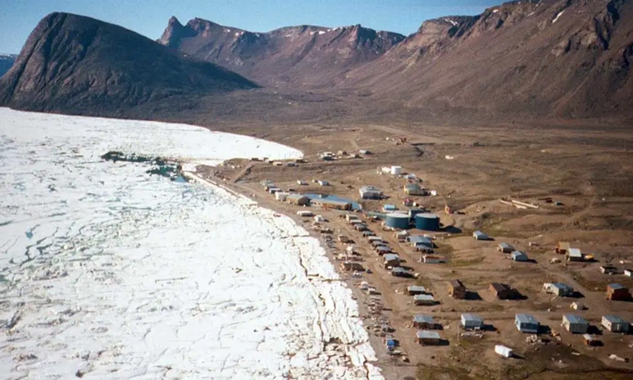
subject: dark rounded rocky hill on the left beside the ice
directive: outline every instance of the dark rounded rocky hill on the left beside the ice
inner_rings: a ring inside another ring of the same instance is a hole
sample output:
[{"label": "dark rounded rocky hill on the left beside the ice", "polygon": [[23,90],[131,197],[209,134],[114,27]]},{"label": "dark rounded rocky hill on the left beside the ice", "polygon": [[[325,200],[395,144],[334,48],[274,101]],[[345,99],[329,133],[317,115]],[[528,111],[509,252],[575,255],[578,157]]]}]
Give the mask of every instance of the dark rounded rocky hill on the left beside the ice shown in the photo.
[{"label": "dark rounded rocky hill on the left beside the ice", "polygon": [[51,13],[0,78],[0,106],[116,114],[182,94],[219,94],[256,85],[212,63],[184,58],[110,23]]}]

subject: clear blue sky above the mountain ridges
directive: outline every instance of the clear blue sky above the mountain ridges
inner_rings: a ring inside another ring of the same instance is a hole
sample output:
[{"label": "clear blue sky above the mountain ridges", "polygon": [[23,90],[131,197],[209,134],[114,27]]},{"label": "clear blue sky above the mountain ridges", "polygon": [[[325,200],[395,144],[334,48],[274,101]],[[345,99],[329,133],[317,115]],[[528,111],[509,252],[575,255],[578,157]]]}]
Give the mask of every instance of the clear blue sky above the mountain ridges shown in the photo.
[{"label": "clear blue sky above the mountain ridges", "polygon": [[361,24],[404,35],[422,21],[449,15],[475,15],[506,0],[0,0],[0,52],[17,53],[37,22],[65,11],[122,25],[157,39],[171,16],[186,23],[204,18],[222,25],[267,32],[311,24]]}]

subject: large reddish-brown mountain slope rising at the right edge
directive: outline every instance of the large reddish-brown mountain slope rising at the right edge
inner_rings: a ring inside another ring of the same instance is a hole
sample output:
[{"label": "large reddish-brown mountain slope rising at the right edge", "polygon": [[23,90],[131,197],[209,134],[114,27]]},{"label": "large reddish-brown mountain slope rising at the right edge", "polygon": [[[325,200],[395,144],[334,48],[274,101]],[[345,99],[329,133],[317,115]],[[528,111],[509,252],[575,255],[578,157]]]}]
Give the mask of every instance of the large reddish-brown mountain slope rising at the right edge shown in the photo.
[{"label": "large reddish-brown mountain slope rising at the right edge", "polygon": [[521,0],[425,21],[346,87],[436,113],[632,114],[633,1]]}]

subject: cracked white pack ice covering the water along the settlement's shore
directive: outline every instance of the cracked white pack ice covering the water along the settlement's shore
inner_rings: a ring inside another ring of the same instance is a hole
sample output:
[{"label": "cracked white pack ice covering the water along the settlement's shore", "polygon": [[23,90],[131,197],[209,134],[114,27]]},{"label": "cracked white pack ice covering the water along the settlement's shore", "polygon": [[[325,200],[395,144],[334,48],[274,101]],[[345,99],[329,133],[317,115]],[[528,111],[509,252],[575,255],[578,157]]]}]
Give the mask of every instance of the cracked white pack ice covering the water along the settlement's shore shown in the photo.
[{"label": "cracked white pack ice covering the water along the settlement's shore", "polygon": [[289,218],[104,162],[298,150],[189,125],[0,109],[3,379],[381,379],[351,291]]}]

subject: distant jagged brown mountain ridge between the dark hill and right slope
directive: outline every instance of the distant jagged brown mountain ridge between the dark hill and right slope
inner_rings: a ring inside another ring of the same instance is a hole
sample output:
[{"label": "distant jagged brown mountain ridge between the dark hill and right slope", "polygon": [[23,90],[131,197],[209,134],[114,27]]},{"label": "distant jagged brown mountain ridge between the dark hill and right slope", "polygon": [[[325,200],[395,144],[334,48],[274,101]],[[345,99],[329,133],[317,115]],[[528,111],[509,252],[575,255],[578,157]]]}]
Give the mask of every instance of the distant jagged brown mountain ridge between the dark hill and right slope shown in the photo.
[{"label": "distant jagged brown mountain ridge between the dark hill and right slope", "polygon": [[360,25],[301,25],[254,33],[199,18],[182,25],[172,17],[158,42],[268,86],[314,88],[338,82],[403,39]]}]

